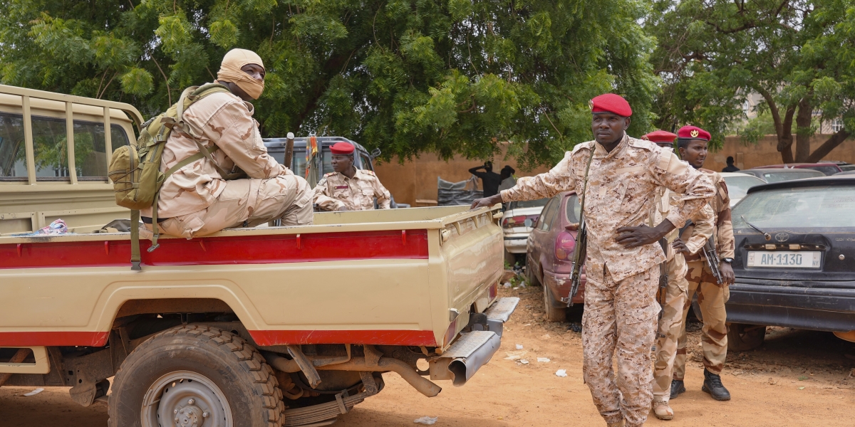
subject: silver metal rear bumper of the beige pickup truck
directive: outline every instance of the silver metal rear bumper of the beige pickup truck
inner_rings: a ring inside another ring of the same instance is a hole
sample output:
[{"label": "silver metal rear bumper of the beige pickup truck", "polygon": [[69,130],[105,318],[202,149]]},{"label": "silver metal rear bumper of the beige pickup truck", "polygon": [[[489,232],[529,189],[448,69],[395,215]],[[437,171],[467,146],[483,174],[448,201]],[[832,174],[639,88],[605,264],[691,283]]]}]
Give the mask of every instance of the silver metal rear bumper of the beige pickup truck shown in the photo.
[{"label": "silver metal rear bumper of the beige pickup truck", "polygon": [[500,298],[486,309],[487,329],[462,333],[442,357],[430,360],[429,372],[432,380],[451,380],[460,387],[475,375],[475,372],[490,361],[502,342],[504,322],[516,310],[520,299]]}]

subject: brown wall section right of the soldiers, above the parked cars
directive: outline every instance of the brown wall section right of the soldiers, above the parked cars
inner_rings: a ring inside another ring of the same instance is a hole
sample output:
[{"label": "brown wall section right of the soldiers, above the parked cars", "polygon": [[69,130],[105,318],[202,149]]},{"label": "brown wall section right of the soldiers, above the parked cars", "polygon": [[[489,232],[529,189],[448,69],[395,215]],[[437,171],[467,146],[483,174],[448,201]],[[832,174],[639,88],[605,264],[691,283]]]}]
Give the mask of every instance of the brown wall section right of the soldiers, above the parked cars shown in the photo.
[{"label": "brown wall section right of the soldiers, above the parked cars", "polygon": [[[830,135],[817,135],[811,137],[811,151],[822,145]],[[825,160],[846,161],[855,163],[855,143],[847,139],[825,156]],[[727,166],[728,155],[734,156],[736,167],[740,169],[751,169],[752,167],[781,164],[781,153],[775,149],[778,146],[778,138],[775,135],[766,135],[760,138],[756,144],[746,144],[740,141],[740,137],[727,137],[724,146],[717,152],[710,153],[704,162],[704,167],[716,172],[721,172]],[[795,143],[793,143],[795,151]]]}]

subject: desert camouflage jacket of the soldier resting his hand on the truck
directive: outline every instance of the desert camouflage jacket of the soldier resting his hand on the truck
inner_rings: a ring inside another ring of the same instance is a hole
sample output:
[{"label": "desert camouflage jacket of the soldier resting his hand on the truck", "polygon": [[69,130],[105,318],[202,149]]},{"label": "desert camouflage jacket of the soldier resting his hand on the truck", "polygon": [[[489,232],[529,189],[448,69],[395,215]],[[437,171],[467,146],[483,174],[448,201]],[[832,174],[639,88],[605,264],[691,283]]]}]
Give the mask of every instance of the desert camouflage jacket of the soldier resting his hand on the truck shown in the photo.
[{"label": "desert camouflage jacket of the soldier resting his hand on the truck", "polygon": [[709,178],[680,161],[671,150],[624,135],[611,152],[596,141],[578,144],[549,172],[519,178],[514,188],[501,192],[502,201],[534,200],[562,191],[581,191],[592,150],[584,196],[587,274],[602,281],[607,269],[612,280],[620,281],[665,260],[658,243],[628,249],[616,241],[618,228],[645,224],[658,187],[683,195],[682,203],[666,216],[674,225],[691,218],[715,195],[715,189]]}]

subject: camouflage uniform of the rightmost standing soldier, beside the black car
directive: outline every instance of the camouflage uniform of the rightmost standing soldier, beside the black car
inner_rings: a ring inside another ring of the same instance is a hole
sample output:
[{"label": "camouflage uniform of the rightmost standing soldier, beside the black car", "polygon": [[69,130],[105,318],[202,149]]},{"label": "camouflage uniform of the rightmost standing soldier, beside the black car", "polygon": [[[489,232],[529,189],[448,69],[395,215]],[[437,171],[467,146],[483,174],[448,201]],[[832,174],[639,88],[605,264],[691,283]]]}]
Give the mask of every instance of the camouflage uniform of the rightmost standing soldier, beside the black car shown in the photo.
[{"label": "camouflage uniform of the rightmost standing soldier, beside the black car", "polygon": [[[711,178],[716,185],[716,197],[711,207],[716,212],[716,252],[719,259],[734,257],[734,227],[730,220],[730,197],[724,178],[718,173],[700,169]],[[693,229],[689,227],[684,233],[684,239],[692,236]],[[702,253],[703,254],[703,253]],[[702,254],[687,258],[688,299],[683,306],[684,325],[677,343],[677,357],[674,363],[674,379],[682,380],[686,376],[686,325],[685,319],[689,307],[692,307],[692,295],[698,292],[698,305],[704,318],[704,328],[701,347],[704,349],[704,367],[707,371],[720,375],[724,368],[724,360],[728,355],[728,313],[724,303],[730,298],[727,285],[717,284],[710,267],[701,258]],[[718,260],[716,260],[718,262]]]}]

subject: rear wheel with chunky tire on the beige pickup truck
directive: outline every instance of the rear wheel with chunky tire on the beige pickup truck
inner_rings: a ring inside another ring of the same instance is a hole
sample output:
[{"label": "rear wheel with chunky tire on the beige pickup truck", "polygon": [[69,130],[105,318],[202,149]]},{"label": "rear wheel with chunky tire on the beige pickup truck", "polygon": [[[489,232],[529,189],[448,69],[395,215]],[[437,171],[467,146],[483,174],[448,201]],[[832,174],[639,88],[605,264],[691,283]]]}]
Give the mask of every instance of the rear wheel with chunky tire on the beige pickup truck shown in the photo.
[{"label": "rear wheel with chunky tire on the beige pickup truck", "polygon": [[205,325],[176,326],[134,348],[115,374],[108,409],[110,427],[280,427],[284,412],[256,348]]}]

